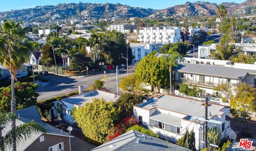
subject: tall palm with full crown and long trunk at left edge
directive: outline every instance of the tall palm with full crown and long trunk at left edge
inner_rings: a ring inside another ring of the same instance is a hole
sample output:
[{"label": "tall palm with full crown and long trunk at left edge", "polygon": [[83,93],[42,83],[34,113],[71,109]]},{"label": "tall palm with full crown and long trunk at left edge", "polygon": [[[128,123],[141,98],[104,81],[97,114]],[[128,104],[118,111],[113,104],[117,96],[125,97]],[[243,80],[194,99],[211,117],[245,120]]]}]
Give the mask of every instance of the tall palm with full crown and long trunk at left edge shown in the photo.
[{"label": "tall palm with full crown and long trunk at left edge", "polygon": [[[26,33],[28,28],[22,27],[22,22],[15,23],[14,20],[5,20],[0,25],[0,64],[5,66],[11,74],[12,100],[11,112],[16,112],[16,101],[14,97],[14,79],[16,71],[28,59],[29,52],[33,49],[28,43]],[[16,127],[15,119],[12,121],[12,128]],[[16,150],[16,139],[13,139],[14,150]]]}]

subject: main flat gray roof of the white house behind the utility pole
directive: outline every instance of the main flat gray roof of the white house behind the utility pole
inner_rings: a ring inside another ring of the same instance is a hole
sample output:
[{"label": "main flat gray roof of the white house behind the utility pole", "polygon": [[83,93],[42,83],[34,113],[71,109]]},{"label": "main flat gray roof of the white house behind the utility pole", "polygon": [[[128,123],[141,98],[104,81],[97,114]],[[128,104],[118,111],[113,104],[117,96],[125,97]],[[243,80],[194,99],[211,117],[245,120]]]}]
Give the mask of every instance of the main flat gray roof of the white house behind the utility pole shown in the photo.
[{"label": "main flat gray roof of the white house behind the utility pole", "polygon": [[[170,110],[185,114],[185,116],[204,116],[204,101],[192,100],[189,98],[182,98],[178,96],[164,95],[158,98],[152,98],[150,101],[137,106],[147,110],[153,108],[162,108],[164,110]],[[211,104],[208,106],[208,118],[211,119],[215,115],[222,115],[224,112],[220,111],[225,106],[218,104]]]}]

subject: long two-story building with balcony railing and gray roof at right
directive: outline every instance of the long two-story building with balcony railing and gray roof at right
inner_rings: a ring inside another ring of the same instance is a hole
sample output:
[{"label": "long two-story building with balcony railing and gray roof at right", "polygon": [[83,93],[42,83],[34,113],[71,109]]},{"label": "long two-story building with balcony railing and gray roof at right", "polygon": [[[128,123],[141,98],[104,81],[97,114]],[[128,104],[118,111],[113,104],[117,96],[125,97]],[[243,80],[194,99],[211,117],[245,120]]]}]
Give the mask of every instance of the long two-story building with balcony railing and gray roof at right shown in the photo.
[{"label": "long two-story building with balcony railing and gray roof at right", "polygon": [[[215,61],[215,60],[213,60]],[[214,62],[212,62],[214,63]],[[256,87],[256,65],[252,65],[251,69],[240,69],[244,65],[212,65],[211,62],[206,64],[194,63],[178,63],[177,67],[173,68],[173,80],[176,82],[175,90],[179,89],[179,85],[194,84],[203,90],[202,96],[216,94],[214,91],[221,83],[230,82],[234,86],[238,86],[241,82],[251,84]],[[253,70],[254,69],[254,70]]]}]

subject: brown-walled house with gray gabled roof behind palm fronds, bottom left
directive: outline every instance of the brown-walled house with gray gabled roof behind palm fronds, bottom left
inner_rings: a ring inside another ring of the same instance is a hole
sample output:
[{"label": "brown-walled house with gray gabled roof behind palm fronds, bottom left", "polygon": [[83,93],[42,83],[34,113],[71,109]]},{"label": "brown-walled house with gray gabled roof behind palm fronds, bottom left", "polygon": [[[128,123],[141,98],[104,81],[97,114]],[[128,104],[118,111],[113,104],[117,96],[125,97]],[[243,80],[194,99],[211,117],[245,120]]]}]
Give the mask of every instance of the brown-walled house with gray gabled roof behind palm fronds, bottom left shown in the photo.
[{"label": "brown-walled house with gray gabled roof behind palm fronds, bottom left", "polygon": [[[46,133],[32,134],[26,141],[17,143],[17,151],[71,151],[70,137],[74,136],[44,123],[35,106],[17,110],[16,116],[18,117],[16,119],[16,126],[34,121],[46,129]],[[10,129],[11,124],[4,127],[2,135],[6,135],[6,132]],[[7,151],[12,151],[12,148],[6,149]]]}]

